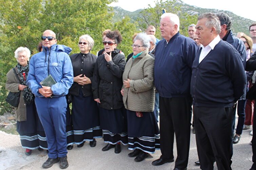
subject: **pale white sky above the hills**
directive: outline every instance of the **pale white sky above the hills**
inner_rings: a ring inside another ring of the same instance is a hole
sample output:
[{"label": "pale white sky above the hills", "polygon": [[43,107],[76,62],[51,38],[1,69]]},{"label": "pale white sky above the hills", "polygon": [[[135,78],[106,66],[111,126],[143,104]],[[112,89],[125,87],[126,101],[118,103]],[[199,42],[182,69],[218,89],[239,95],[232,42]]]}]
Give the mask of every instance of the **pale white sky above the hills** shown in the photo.
[{"label": "pale white sky above the hills", "polygon": [[[111,6],[120,6],[128,11],[147,8],[147,4],[154,7],[155,0],[119,0],[112,3]],[[256,21],[256,0],[182,0],[186,4],[194,5],[201,8],[214,8],[220,10],[228,10],[238,16]],[[243,9],[242,9],[243,8]]]}]

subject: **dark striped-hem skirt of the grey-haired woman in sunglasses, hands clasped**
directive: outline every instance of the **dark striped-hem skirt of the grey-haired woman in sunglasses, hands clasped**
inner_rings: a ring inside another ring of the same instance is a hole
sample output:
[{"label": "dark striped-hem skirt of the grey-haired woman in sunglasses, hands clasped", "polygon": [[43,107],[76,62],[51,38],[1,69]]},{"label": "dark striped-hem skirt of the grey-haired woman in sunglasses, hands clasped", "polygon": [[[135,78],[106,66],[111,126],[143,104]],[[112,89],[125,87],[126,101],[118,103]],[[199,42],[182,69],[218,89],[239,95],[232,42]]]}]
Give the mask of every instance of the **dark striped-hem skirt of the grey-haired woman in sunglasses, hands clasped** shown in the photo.
[{"label": "dark striped-hem skirt of the grey-haired woman in sunglasses, hands clasped", "polygon": [[72,95],[72,121],[75,144],[102,137],[97,102],[93,96],[84,97],[81,89],[78,96]]}]

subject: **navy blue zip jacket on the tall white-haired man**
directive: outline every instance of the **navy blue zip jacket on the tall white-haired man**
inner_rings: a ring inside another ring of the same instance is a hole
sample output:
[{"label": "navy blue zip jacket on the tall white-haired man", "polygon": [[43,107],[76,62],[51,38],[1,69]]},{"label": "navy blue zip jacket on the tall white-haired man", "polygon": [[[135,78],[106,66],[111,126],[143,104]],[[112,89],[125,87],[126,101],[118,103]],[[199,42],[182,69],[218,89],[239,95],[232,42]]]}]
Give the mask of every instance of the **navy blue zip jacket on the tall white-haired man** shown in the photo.
[{"label": "navy blue zip jacket on the tall white-haired man", "polygon": [[197,45],[193,39],[175,34],[168,42],[162,39],[155,50],[155,87],[161,97],[190,96],[192,64]]}]

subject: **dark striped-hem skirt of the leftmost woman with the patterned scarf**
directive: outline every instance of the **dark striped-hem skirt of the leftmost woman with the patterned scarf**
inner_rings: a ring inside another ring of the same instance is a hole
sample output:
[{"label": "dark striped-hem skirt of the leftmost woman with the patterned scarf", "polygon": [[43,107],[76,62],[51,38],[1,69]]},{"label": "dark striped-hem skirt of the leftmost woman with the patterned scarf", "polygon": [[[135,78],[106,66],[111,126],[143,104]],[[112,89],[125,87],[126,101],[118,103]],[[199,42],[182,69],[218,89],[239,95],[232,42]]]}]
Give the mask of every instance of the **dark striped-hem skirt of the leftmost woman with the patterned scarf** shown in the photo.
[{"label": "dark striped-hem skirt of the leftmost woman with the patterned scarf", "polygon": [[26,105],[26,121],[17,121],[17,132],[20,135],[21,146],[27,149],[47,149],[43,125],[36,111],[35,101]]}]

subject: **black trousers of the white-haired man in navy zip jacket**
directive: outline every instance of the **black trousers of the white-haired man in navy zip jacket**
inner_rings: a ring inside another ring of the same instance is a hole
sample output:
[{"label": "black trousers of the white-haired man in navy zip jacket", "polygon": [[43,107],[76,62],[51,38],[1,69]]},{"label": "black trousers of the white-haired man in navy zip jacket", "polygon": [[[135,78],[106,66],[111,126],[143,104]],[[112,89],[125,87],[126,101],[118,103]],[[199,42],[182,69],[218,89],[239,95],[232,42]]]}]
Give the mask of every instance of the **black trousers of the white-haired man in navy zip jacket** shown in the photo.
[{"label": "black trousers of the white-haired man in navy zip jacket", "polygon": [[162,159],[173,159],[174,133],[177,145],[175,168],[188,166],[191,97],[159,97],[160,148]]}]

